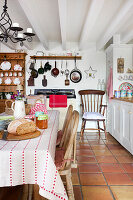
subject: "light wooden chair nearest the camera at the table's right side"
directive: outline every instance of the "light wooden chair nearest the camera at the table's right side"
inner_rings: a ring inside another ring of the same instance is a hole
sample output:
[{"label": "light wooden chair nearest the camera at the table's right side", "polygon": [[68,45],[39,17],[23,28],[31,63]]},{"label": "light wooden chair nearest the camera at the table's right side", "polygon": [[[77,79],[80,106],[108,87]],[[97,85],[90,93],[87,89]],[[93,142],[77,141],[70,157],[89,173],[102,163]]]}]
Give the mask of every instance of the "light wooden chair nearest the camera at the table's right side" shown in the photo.
[{"label": "light wooden chair nearest the camera at the table's right side", "polygon": [[68,124],[63,149],[57,149],[55,154],[55,165],[61,176],[66,176],[67,194],[69,200],[74,200],[73,186],[71,180],[71,161],[74,139],[77,135],[79,113],[73,111],[71,121]]}]

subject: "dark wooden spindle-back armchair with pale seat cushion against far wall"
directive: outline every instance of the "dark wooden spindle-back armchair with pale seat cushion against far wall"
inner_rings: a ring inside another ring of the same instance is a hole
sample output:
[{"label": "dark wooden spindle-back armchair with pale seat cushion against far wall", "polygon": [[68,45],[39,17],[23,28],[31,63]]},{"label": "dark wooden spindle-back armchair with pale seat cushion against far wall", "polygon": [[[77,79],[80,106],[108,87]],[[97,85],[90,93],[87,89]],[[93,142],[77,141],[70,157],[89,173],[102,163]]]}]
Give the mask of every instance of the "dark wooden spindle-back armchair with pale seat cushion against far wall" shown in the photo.
[{"label": "dark wooden spindle-back armchair with pale seat cushion against far wall", "polygon": [[[81,137],[83,136],[84,130],[98,130],[100,137],[100,130],[106,133],[105,126],[105,108],[106,105],[102,105],[103,95],[105,94],[102,90],[80,90],[81,96],[81,108],[82,108],[82,126],[81,126]],[[98,128],[85,128],[86,121],[96,121]],[[103,129],[100,128],[99,122],[103,122]]]}]

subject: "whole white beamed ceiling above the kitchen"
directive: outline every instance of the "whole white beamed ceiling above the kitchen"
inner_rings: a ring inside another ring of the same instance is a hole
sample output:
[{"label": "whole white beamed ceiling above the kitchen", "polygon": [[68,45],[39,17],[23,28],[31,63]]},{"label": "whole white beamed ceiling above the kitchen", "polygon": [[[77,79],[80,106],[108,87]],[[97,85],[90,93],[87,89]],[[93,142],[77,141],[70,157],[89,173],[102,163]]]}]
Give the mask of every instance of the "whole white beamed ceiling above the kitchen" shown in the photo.
[{"label": "whole white beamed ceiling above the kitchen", "polygon": [[[4,0],[0,0],[0,14]],[[8,13],[26,31],[36,33],[33,43],[76,42],[80,49],[96,44],[102,49],[119,34],[121,43],[133,42],[133,0],[7,0]],[[28,44],[29,45],[29,44]],[[26,46],[26,45],[25,45]],[[32,44],[31,44],[32,46]]]}]

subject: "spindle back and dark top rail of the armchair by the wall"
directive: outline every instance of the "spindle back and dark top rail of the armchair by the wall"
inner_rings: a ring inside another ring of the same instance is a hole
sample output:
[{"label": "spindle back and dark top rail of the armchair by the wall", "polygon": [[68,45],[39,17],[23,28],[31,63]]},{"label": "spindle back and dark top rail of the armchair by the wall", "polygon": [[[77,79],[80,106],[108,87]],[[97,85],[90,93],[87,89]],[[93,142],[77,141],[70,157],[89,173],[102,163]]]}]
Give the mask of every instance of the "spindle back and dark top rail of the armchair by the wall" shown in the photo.
[{"label": "spindle back and dark top rail of the armchair by the wall", "polygon": [[80,90],[81,103],[84,112],[101,112],[103,95],[102,90]]}]

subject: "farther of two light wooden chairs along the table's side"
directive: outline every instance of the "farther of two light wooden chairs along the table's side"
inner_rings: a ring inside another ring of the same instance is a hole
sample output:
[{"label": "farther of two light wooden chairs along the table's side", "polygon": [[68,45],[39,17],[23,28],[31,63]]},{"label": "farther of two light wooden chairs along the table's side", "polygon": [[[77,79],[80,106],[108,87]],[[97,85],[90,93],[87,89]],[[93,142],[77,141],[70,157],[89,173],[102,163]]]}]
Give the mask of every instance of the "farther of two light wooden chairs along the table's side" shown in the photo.
[{"label": "farther of two light wooden chairs along the table's side", "polygon": [[57,141],[56,141],[57,146],[62,147],[62,145],[64,143],[65,132],[66,132],[66,129],[68,127],[70,118],[72,116],[72,112],[73,112],[73,106],[69,105],[69,107],[67,109],[66,117],[65,117],[65,120],[64,120],[63,128],[62,128],[62,130],[59,130],[58,134],[57,134]]}]

